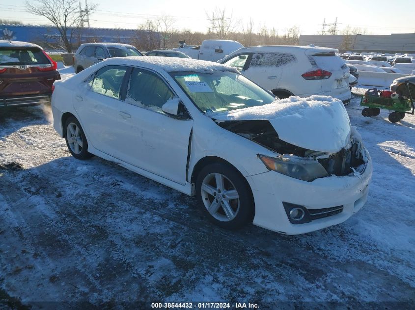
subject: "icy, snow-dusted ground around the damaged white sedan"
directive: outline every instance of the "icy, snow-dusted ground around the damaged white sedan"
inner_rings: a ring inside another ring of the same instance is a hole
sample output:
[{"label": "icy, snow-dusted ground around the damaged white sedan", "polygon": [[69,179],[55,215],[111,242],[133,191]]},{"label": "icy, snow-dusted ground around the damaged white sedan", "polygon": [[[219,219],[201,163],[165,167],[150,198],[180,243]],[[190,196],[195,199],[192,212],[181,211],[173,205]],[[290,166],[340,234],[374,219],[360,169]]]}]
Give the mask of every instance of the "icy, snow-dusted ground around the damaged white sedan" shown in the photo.
[{"label": "icy, snow-dusted ground around the damaged white sedan", "polygon": [[221,230],[192,197],[97,157],[71,157],[47,108],[1,111],[0,301],[246,301],[260,309],[283,306],[275,301],[404,301],[410,307],[415,116],[396,124],[386,111],[363,118],[359,102],[355,96],[347,111],[373,159],[367,203],[340,225],[300,236],[255,226]]}]

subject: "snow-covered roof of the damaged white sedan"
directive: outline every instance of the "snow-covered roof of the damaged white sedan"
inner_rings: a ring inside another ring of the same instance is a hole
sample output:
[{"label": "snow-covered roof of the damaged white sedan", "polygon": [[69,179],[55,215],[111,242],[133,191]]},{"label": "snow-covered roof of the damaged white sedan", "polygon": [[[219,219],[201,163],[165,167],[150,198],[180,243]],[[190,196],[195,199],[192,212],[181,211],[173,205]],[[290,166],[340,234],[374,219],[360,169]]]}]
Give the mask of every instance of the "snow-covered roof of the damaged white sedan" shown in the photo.
[{"label": "snow-covered roof of the damaged white sedan", "polygon": [[122,64],[143,66],[145,68],[156,71],[176,72],[176,71],[192,71],[192,72],[213,72],[213,71],[238,71],[229,66],[225,66],[216,62],[198,60],[192,58],[175,58],[175,57],[117,57],[104,60],[106,64]]}]

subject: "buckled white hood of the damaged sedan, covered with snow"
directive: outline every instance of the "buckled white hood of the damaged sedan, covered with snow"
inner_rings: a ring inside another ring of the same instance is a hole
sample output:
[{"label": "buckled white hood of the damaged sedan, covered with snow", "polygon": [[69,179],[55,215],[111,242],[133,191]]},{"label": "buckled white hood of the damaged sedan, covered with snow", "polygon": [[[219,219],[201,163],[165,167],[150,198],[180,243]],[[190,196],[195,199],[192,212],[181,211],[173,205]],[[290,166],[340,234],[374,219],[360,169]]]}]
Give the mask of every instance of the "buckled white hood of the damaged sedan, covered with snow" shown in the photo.
[{"label": "buckled white hood of the damaged sedan, covered with snow", "polygon": [[314,151],[335,153],[350,140],[350,119],[343,103],[328,96],[291,96],[263,106],[207,113],[216,120],[269,120],[278,138]]}]

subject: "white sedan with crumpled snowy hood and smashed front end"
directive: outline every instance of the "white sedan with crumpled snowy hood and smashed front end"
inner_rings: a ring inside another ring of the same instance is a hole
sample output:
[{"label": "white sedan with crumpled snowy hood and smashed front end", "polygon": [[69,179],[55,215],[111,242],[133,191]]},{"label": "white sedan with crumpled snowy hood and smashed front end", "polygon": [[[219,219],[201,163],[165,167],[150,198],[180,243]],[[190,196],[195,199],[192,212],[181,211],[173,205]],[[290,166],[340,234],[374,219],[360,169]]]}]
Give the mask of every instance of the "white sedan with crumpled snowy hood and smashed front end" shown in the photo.
[{"label": "white sedan with crumpled snowy hood and smashed front end", "polygon": [[366,201],[371,159],[340,100],[276,101],[221,64],[111,58],[55,82],[52,109],[75,158],[97,155],[196,195],[223,228],[301,234]]}]

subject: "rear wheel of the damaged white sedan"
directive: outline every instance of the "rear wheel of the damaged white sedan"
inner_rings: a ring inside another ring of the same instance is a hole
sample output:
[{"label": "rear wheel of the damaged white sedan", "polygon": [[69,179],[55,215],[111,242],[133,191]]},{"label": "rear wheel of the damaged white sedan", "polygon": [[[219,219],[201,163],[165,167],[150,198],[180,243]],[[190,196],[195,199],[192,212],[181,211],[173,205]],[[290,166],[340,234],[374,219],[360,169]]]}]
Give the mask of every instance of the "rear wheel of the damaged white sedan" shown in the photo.
[{"label": "rear wheel of the damaged white sedan", "polygon": [[69,152],[76,159],[84,160],[93,155],[88,153],[88,142],[78,119],[70,117],[65,122],[65,141]]}]

